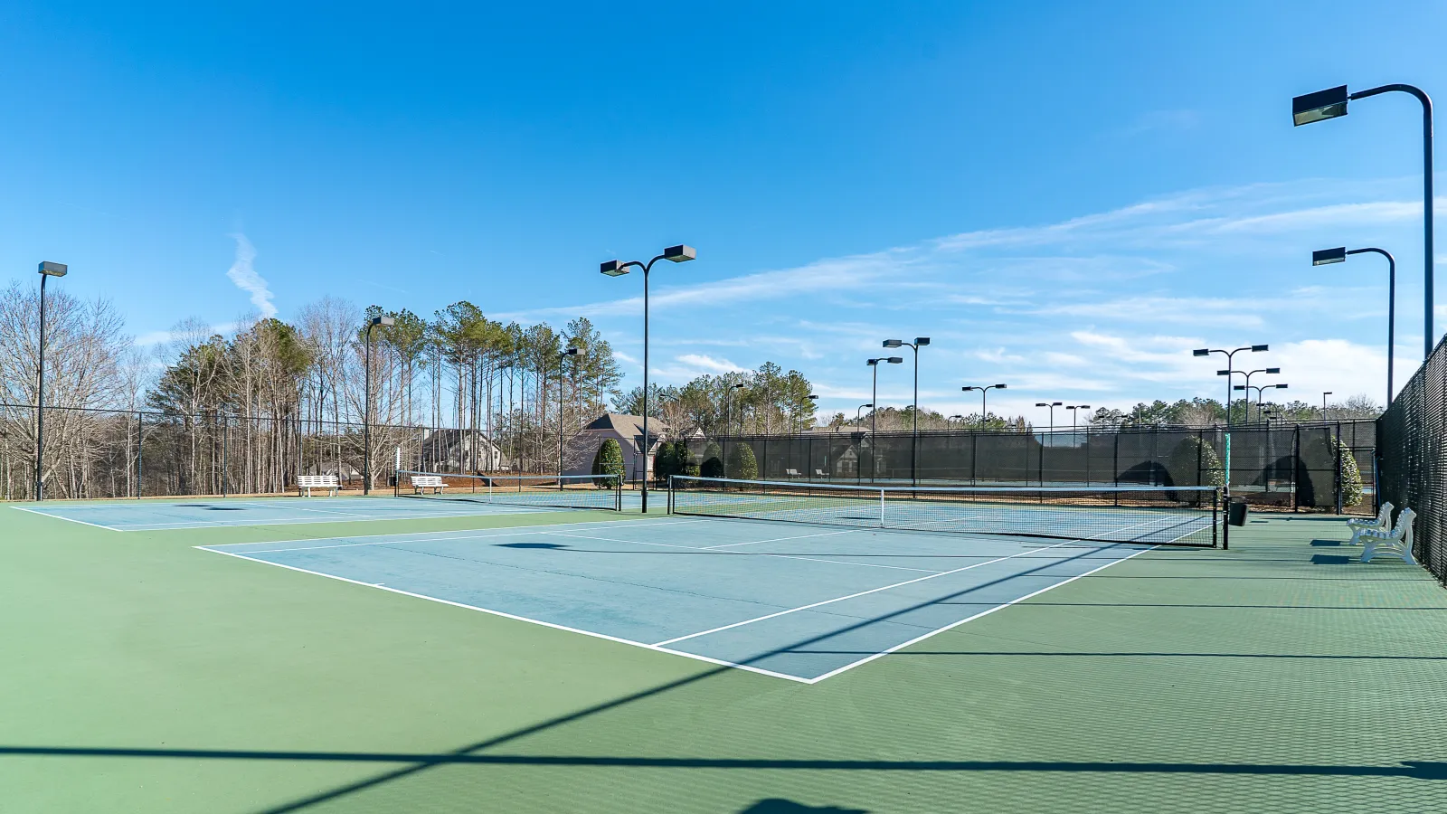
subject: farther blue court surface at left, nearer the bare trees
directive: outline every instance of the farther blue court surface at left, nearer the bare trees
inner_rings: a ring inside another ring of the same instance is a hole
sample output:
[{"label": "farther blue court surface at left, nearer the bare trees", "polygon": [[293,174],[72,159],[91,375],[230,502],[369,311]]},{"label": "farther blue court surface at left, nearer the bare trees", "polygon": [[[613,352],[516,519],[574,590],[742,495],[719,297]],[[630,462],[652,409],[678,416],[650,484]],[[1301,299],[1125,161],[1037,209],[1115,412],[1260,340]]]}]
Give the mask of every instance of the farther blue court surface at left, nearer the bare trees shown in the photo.
[{"label": "farther blue court surface at left, nearer the bare trees", "polygon": [[[606,492],[599,492],[606,494]],[[511,498],[509,498],[511,500]],[[637,495],[624,494],[624,508],[637,505]],[[437,500],[411,497],[275,497],[192,498],[179,501],[109,501],[14,507],[72,523],[113,532],[161,532],[166,529],[223,529],[229,526],[279,526],[337,523],[350,520],[417,520],[423,517],[470,517],[478,514],[524,514],[566,511],[551,505],[486,503],[483,500]]]}]

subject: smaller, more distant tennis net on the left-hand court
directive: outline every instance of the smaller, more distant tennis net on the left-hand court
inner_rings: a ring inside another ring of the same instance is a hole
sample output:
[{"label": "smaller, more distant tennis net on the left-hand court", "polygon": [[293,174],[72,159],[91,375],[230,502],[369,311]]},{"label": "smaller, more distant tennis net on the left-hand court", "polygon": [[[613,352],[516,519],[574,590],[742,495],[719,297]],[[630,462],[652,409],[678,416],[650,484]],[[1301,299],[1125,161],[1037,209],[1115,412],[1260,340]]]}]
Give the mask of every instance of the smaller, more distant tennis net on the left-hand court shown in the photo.
[{"label": "smaller, more distant tennis net on the left-hand court", "polygon": [[437,501],[622,511],[622,482],[615,475],[454,475],[404,469],[396,474],[394,494]]}]

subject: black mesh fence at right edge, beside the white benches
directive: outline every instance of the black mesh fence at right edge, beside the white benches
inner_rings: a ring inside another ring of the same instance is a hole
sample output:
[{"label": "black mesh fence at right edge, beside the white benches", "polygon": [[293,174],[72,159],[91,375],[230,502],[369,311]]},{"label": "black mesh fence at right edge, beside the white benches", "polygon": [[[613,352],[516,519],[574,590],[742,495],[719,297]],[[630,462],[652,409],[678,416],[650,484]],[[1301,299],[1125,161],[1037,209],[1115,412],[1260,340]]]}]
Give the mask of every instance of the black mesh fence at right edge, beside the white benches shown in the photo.
[{"label": "black mesh fence at right edge, beside the white benches", "polygon": [[1382,500],[1417,513],[1412,553],[1447,582],[1447,339],[1378,419]]}]

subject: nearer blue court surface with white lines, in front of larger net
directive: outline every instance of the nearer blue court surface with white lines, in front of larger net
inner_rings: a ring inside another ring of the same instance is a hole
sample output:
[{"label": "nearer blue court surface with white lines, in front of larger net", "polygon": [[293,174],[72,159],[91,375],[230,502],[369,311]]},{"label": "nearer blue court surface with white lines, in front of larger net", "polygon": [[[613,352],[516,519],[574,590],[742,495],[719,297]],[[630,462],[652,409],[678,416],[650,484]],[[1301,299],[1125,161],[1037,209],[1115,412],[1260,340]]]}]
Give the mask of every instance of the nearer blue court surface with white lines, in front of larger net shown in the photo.
[{"label": "nearer blue court surface with white lines, in front of larger net", "polygon": [[806,684],[1150,550],[679,517],[197,547]]}]

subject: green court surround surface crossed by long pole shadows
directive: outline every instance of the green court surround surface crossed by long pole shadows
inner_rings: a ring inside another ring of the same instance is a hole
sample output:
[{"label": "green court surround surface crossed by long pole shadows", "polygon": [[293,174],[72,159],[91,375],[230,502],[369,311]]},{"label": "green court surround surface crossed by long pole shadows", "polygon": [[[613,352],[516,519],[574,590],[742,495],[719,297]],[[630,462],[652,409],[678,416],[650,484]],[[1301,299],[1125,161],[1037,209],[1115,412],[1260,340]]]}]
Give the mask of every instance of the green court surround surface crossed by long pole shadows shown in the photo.
[{"label": "green court surround surface crossed by long pole shadows", "polygon": [[1447,810],[1447,592],[1324,545],[1340,519],[1146,550],[818,684],[195,547],[583,521],[637,517],[0,507],[0,810]]}]

